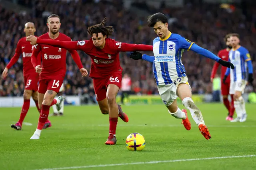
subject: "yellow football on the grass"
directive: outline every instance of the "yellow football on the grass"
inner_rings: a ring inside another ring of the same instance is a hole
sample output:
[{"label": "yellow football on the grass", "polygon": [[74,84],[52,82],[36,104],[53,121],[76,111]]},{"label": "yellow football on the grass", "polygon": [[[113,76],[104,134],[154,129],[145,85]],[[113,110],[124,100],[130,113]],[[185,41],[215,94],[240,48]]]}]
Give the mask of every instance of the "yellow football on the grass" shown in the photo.
[{"label": "yellow football on the grass", "polygon": [[145,138],[142,134],[131,133],[126,138],[126,148],[131,151],[138,151],[145,148]]}]

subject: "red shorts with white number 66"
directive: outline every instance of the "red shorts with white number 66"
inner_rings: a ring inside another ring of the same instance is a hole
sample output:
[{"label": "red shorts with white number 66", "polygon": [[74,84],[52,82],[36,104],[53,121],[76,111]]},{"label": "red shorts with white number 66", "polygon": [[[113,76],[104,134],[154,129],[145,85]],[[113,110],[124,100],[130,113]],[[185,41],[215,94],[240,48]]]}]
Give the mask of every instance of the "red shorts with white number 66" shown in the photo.
[{"label": "red shorts with white number 66", "polygon": [[121,87],[122,72],[112,73],[111,75],[104,78],[92,79],[94,91],[97,101],[102,101],[106,98],[107,87],[109,84],[117,85]]}]

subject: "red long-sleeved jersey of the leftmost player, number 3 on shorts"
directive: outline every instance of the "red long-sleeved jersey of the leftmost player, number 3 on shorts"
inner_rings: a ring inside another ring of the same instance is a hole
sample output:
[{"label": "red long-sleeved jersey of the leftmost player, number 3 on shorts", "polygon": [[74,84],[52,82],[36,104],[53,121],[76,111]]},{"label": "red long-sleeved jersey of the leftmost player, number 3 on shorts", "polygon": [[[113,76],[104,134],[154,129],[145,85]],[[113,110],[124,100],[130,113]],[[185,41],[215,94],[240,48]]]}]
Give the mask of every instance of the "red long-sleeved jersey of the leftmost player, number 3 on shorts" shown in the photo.
[{"label": "red long-sleeved jersey of the leftmost player, number 3 on shorts", "polygon": [[[31,63],[31,55],[32,55],[32,50],[33,50],[33,45],[30,44],[30,42],[26,41],[26,37],[21,38],[18,43],[17,47],[15,50],[15,54],[12,57],[11,61],[8,63],[6,66],[8,69],[14,65],[19,57],[20,54],[22,54],[22,61],[23,61],[23,75],[29,75],[31,73],[36,73],[32,63]],[[38,53],[38,55],[41,55]],[[41,61],[38,61],[38,64],[40,64]]]}]

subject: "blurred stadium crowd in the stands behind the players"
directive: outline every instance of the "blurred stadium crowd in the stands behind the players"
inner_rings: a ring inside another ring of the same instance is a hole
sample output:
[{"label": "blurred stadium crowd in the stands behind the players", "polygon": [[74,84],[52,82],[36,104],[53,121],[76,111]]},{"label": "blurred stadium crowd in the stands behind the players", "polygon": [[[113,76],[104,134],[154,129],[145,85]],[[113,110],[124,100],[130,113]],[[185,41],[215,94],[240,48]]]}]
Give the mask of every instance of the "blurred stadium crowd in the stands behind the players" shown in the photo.
[{"label": "blurred stadium crowd in the stands behind the players", "polygon": [[[2,71],[15,53],[18,40],[24,35],[24,24],[28,21],[36,25],[36,36],[48,32],[46,26],[47,17],[50,14],[58,14],[61,17],[60,32],[75,40],[88,40],[88,26],[99,23],[107,17],[108,26],[114,26],[114,36],[111,38],[120,42],[152,44],[156,34],[147,26],[147,16],[138,17],[128,9],[122,7],[122,1],[103,2],[97,4],[90,0],[74,0],[63,2],[59,0],[18,0],[20,5],[32,8],[32,13],[26,15],[4,9],[0,6],[0,96],[22,96],[24,82],[22,75],[22,58],[18,60],[6,79],[2,79]],[[253,66],[256,68],[256,6],[246,4],[232,6],[228,10],[220,8],[220,4],[196,3],[200,2],[184,0],[183,8],[165,8],[162,4],[160,9],[147,6],[145,3],[132,4],[150,14],[162,12],[170,17],[170,30],[196,42],[198,45],[217,54],[225,48],[223,38],[228,33],[238,33],[241,37],[241,45],[246,47],[252,57]],[[107,3],[107,4],[106,4]],[[82,51],[78,51],[82,63],[88,71],[91,59]],[[147,61],[134,61],[129,58],[130,53],[120,53],[120,62],[132,78],[132,91],[135,94],[158,94],[155,79],[152,74],[152,64]],[[153,55],[152,52],[148,53]],[[94,95],[92,79],[82,77],[78,67],[67,54],[67,73],[64,81],[66,95]],[[182,56],[192,93],[212,93],[210,73],[214,61],[197,55],[192,51]],[[254,77],[256,69],[254,69]],[[254,80],[256,87],[256,80]]]}]

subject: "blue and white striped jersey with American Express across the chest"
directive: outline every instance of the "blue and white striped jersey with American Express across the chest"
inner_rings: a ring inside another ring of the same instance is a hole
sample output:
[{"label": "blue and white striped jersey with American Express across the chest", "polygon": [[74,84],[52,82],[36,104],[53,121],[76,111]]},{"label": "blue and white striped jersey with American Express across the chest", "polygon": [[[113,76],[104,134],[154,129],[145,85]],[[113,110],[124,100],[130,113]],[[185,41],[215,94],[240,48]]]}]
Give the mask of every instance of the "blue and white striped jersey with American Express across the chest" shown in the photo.
[{"label": "blue and white striped jersey with American Express across the chest", "polygon": [[159,37],[154,39],[153,72],[157,85],[172,84],[178,77],[186,76],[181,57],[184,50],[189,50],[193,43],[172,33],[163,40]]}]

